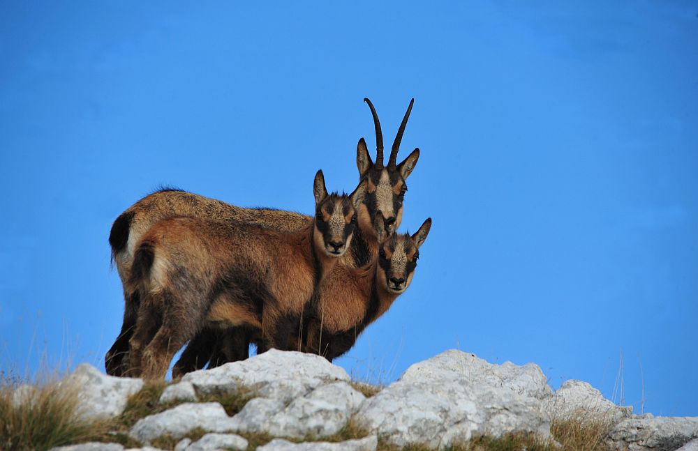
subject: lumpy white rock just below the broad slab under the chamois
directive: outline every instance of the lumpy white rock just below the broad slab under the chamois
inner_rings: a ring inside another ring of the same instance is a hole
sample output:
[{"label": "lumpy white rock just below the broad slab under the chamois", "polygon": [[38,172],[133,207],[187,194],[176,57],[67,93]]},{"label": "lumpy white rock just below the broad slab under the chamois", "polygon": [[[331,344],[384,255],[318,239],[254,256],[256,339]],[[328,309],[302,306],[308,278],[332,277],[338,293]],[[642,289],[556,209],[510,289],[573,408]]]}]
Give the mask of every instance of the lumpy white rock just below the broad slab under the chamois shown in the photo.
[{"label": "lumpy white rock just below the broad slab under the chamois", "polygon": [[257,398],[233,418],[237,431],[266,432],[272,436],[325,437],[339,432],[365,397],[348,383],[316,388],[285,406],[276,399]]}]

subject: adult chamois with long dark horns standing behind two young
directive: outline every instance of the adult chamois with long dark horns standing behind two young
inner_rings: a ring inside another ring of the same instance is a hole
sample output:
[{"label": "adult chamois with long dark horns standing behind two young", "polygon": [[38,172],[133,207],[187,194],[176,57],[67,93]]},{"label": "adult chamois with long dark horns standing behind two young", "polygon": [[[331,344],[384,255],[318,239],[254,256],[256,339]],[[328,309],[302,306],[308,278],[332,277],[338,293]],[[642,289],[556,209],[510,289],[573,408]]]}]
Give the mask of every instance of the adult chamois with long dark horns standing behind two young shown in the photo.
[{"label": "adult chamois with long dark horns standing behind two young", "polygon": [[[415,148],[403,162],[399,165],[395,164],[414,99],[410,101],[410,106],[395,137],[387,167],[383,165],[383,135],[380,131],[378,115],[370,100],[364,99],[364,102],[371,108],[374,128],[376,129],[376,162],[371,160],[364,139],[359,139],[356,160],[359,180],[369,178],[369,192],[366,193],[364,206],[359,208],[359,227],[350,245],[350,250],[341,257],[337,267],[356,268],[371,260],[371,255],[378,248],[371,218],[378,209],[391,212],[387,216],[394,217],[394,227],[399,227],[402,217],[402,201],[407,189],[405,179],[413,171],[419,159],[419,149]],[[138,292],[131,291],[128,287],[135,245],[156,222],[180,216],[258,224],[276,231],[298,231],[310,219],[307,215],[272,208],[242,208],[181,190],[154,192],[126,209],[114,221],[109,236],[112,259],[117,266],[119,277],[124,286],[124,320],[119,336],[105,355],[107,374],[120,376],[128,367],[128,340],[133,335],[140,305]],[[188,345],[175,366],[181,367],[186,372],[206,365],[211,356],[212,343],[216,342],[216,337],[211,336],[212,333],[214,332],[194,340]],[[233,332],[226,333],[230,335]],[[242,337],[245,336],[244,332],[239,333]],[[202,332],[202,335],[205,335],[205,332]],[[247,355],[247,349],[240,349],[233,358],[245,358]]]}]

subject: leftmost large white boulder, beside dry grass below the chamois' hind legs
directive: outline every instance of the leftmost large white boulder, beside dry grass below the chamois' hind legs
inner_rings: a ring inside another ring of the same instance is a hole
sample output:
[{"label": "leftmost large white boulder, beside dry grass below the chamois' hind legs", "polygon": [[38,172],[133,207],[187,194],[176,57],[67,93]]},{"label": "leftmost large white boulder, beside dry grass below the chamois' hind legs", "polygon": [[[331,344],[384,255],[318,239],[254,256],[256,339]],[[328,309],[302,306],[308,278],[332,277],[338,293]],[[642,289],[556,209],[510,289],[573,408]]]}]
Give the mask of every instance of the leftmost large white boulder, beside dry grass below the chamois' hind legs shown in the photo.
[{"label": "leftmost large white boulder, beside dry grass below the chamois' hind legs", "polygon": [[84,420],[105,420],[124,413],[128,397],[143,388],[141,379],[107,376],[87,363],[61,381],[78,390],[80,416]]}]

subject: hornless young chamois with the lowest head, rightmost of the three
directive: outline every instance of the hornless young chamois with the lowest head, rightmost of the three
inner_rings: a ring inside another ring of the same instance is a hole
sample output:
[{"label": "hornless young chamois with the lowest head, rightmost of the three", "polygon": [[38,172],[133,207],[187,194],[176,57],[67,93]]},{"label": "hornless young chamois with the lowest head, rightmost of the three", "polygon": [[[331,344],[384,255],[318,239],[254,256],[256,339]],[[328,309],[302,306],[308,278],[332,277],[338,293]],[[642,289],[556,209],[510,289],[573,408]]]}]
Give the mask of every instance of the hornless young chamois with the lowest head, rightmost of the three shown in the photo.
[{"label": "hornless young chamois with the lowest head, rightmost of the three", "polygon": [[431,229],[431,218],[412,236],[388,235],[384,218],[376,213],[378,254],[361,268],[351,268],[341,279],[325,277],[318,286],[313,316],[306,326],[304,351],[320,354],[332,362],[354,346],[366,326],[390,308],[410,286],[415,275],[419,247]]}]

